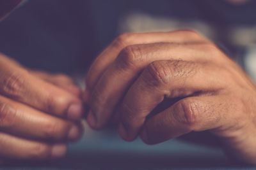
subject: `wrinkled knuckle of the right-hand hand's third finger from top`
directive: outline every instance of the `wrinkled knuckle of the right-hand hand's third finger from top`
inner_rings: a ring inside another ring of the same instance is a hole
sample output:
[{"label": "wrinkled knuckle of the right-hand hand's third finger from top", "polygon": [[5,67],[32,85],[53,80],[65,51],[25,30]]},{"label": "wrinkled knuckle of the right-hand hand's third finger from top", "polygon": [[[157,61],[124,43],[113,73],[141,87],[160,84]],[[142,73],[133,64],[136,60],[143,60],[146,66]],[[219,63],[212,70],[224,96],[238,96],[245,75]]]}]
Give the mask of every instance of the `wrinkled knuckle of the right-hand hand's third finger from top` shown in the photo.
[{"label": "wrinkled knuckle of the right-hand hand's third finger from top", "polygon": [[148,85],[157,86],[162,83],[168,83],[172,74],[172,70],[164,62],[155,61],[146,67],[143,77]]}]

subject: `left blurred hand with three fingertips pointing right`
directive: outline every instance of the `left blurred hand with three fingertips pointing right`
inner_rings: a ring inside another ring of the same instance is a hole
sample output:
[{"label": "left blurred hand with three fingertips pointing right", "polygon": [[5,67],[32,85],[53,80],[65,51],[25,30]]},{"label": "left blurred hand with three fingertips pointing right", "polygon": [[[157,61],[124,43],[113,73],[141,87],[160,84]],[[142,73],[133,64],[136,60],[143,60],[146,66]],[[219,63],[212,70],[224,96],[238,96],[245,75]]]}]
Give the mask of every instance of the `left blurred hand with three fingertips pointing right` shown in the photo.
[{"label": "left blurred hand with three fingertips pointing right", "polygon": [[0,162],[65,155],[81,135],[80,94],[67,76],[28,71],[0,54]]}]

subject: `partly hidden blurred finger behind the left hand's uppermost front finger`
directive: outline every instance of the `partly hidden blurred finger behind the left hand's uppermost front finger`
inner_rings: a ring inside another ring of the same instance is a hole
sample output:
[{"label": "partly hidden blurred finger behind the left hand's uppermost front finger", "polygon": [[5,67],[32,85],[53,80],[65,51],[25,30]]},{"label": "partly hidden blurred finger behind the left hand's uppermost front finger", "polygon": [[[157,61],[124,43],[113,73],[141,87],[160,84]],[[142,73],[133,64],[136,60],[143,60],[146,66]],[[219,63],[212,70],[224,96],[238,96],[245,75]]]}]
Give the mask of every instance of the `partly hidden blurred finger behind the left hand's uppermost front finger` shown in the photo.
[{"label": "partly hidden blurred finger behind the left hand's uppermost front finger", "polygon": [[42,78],[42,80],[52,83],[53,85],[61,87],[77,97],[81,97],[82,95],[81,89],[77,87],[76,82],[65,74],[51,74],[43,71],[29,71],[29,73],[38,78]]}]

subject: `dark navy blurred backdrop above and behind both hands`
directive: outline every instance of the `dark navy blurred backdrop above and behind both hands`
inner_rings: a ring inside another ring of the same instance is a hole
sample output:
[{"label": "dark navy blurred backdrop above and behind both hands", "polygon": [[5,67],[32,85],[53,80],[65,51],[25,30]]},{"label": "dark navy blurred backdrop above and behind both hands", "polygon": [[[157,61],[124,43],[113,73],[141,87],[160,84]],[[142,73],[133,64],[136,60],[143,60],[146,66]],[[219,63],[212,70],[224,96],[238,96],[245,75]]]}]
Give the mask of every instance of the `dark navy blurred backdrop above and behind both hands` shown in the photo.
[{"label": "dark navy blurred backdrop above and behind both hands", "polygon": [[253,25],[256,1],[236,5],[205,0],[33,0],[0,24],[0,52],[27,67],[51,72],[84,73],[97,54],[117,35],[118,20],[129,11],[210,22],[218,42],[228,28]]}]

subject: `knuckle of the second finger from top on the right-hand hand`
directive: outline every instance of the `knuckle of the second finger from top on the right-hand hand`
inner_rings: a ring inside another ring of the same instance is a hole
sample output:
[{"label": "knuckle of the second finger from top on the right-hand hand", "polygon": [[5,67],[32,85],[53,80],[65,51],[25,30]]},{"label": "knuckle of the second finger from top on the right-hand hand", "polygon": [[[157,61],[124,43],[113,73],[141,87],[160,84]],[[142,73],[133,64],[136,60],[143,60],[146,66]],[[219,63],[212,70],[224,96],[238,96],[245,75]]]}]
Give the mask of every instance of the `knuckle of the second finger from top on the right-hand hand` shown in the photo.
[{"label": "knuckle of the second finger from top on the right-hand hand", "polygon": [[122,68],[129,68],[136,66],[142,59],[143,53],[140,45],[126,46],[118,55],[118,66]]}]

